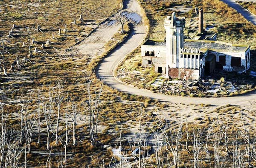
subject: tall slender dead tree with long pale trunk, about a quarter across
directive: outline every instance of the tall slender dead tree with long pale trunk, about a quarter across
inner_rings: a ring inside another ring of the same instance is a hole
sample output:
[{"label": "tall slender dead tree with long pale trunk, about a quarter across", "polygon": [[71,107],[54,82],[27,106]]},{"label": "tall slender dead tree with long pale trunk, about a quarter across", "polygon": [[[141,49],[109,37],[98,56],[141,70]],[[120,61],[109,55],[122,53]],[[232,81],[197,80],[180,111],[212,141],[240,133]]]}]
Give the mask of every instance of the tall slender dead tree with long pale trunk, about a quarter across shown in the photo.
[{"label": "tall slender dead tree with long pale trunk, about a quarter across", "polygon": [[56,132],[55,132],[55,144],[57,144],[61,104],[63,103],[63,100],[65,98],[63,83],[61,81],[58,81],[56,88],[52,88],[52,91],[54,93],[53,103],[57,106],[57,120],[56,120]]}]

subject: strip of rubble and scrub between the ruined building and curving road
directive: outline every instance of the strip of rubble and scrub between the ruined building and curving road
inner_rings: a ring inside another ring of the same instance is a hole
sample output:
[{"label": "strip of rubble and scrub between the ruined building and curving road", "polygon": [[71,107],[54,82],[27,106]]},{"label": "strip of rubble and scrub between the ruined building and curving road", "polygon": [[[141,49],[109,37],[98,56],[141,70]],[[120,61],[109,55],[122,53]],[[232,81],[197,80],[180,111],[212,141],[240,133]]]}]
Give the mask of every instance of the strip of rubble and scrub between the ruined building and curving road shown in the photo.
[{"label": "strip of rubble and scrub between the ruined building and curving road", "polygon": [[119,69],[117,71],[117,77],[125,83],[156,93],[190,97],[232,96],[240,94],[243,91],[253,90],[256,83],[254,78],[238,78],[236,75],[227,79],[221,76],[215,76],[199,80],[172,80],[166,79],[163,75],[160,76],[158,74],[158,77],[152,80],[149,77],[151,75],[148,70],[149,68],[153,67],[148,67],[147,65],[141,71]]}]

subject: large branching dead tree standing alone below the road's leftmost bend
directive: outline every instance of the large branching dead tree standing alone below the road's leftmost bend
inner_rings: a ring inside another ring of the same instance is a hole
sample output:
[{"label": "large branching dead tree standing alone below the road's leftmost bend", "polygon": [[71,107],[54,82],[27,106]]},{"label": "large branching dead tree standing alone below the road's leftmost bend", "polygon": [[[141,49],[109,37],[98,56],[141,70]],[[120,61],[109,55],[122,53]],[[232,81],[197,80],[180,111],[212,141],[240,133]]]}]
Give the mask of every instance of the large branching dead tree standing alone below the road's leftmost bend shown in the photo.
[{"label": "large branching dead tree standing alone below the road's leftmost bend", "polygon": [[[93,146],[95,143],[96,134],[98,131],[98,122],[99,122],[99,111],[101,109],[100,105],[100,98],[102,94],[102,88],[103,85],[99,84],[99,88],[93,87],[92,81],[89,79],[90,77],[87,77],[87,80],[89,81],[86,90],[88,94],[88,102],[89,107],[85,111],[85,114],[87,114],[88,117],[85,116],[85,121],[87,124],[87,131],[90,135],[90,145]],[[92,89],[95,89],[92,91]]]}]

